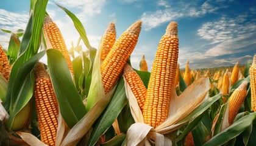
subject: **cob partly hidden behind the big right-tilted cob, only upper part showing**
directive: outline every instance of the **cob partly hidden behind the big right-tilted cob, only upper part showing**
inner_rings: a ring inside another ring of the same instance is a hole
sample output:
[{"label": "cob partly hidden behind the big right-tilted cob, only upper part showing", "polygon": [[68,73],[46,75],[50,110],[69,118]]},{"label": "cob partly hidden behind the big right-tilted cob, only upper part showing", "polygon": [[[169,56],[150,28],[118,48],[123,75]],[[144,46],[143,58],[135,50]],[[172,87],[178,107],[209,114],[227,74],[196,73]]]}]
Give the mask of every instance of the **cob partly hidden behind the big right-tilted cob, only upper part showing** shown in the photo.
[{"label": "cob partly hidden behind the big right-tilted cob, only upper part showing", "polygon": [[116,27],[115,23],[108,24],[107,30],[105,30],[103,45],[101,50],[101,59],[104,60],[107,57],[108,52],[112,48],[116,41]]}]

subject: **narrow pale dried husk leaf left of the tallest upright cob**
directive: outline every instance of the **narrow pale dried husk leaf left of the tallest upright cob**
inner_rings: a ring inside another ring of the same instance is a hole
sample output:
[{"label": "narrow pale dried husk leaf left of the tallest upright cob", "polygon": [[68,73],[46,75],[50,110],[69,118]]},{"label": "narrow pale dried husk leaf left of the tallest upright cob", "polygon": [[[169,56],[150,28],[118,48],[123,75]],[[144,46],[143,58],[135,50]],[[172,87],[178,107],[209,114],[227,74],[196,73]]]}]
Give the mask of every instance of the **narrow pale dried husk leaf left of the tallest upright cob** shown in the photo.
[{"label": "narrow pale dried husk leaf left of the tallest upright cob", "polygon": [[[124,76],[123,76],[124,77]],[[143,115],[140,110],[140,106],[138,105],[137,99],[134,96],[132,89],[130,88],[129,83],[126,81],[126,78],[124,77],[124,87],[126,88],[126,97],[129,101],[129,106],[130,106],[130,113],[132,113],[132,117],[134,121],[137,122],[142,122],[144,123],[143,120]]]}]

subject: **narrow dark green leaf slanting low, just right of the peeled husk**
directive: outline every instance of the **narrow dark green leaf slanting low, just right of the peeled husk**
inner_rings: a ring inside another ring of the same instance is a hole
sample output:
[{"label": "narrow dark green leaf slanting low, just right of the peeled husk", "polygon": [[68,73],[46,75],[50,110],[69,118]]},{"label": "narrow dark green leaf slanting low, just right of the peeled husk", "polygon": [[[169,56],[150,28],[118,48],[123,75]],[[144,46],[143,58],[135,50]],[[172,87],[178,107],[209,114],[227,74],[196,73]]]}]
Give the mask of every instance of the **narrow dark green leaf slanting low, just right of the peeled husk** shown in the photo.
[{"label": "narrow dark green leaf slanting low, just right of the peeled husk", "polygon": [[197,127],[197,125],[201,122],[202,118],[204,117],[204,114],[201,114],[200,116],[196,117],[194,120],[192,120],[188,126],[185,128],[185,130],[182,132],[182,134],[176,139],[176,142],[182,140],[187,136],[190,131],[192,131],[194,128]]}]

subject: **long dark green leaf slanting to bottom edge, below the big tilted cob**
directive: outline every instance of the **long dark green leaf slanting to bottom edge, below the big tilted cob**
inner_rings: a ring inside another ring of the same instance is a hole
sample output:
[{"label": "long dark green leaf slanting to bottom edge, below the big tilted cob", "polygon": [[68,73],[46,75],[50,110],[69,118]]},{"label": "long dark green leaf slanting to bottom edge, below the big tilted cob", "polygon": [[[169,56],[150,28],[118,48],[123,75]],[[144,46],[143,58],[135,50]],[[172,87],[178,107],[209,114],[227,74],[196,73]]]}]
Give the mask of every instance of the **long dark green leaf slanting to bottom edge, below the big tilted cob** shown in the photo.
[{"label": "long dark green leaf slanting to bottom edge, below the big tilted cob", "polygon": [[88,145],[96,144],[99,137],[104,134],[105,131],[107,131],[107,129],[118,117],[121,110],[127,104],[123,78],[120,78],[117,86],[118,87],[116,88],[115,94],[113,95],[111,102],[93,126],[93,131],[91,133]]}]

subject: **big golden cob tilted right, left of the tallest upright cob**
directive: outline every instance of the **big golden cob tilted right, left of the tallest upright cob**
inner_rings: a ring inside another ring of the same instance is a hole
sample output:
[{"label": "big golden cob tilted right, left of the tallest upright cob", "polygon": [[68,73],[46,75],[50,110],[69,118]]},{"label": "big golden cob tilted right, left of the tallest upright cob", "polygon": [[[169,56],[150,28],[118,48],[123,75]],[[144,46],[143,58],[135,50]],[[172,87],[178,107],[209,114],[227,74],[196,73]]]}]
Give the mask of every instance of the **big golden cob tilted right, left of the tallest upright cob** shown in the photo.
[{"label": "big golden cob tilted right, left of the tallest upright cob", "polygon": [[137,44],[138,36],[141,30],[141,20],[133,23],[119,38],[115,41],[112,49],[101,65],[101,77],[105,93],[115,84],[130,54]]}]

